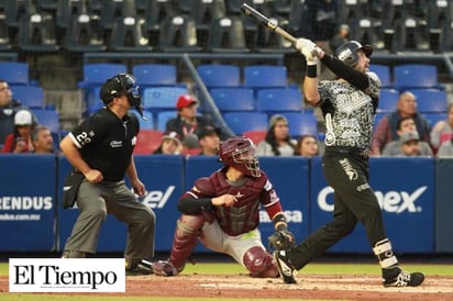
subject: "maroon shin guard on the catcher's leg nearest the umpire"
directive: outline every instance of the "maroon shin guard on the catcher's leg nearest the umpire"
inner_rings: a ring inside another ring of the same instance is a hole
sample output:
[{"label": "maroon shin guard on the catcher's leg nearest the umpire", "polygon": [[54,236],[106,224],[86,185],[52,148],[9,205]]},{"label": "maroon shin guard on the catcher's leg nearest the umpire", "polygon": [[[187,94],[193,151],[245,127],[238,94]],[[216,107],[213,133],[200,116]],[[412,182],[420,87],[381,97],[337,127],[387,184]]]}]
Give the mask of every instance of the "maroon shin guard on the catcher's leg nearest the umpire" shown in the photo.
[{"label": "maroon shin guard on the catcher's leg nearest the umpire", "polygon": [[187,258],[197,245],[203,224],[202,215],[183,214],[178,220],[169,257],[169,263],[176,267],[178,272],[184,269]]}]

